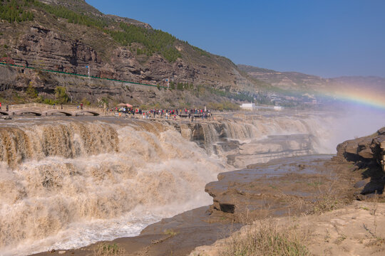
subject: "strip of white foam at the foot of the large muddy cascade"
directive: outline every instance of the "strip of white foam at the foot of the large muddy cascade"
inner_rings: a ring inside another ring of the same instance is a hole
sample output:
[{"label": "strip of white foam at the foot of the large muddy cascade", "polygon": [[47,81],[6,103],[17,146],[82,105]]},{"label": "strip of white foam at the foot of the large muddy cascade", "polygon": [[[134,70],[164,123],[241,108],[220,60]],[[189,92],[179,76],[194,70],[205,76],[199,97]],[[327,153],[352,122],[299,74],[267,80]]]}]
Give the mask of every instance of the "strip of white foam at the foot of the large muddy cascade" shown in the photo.
[{"label": "strip of white foam at the foot of the large muddy cascade", "polygon": [[[25,240],[16,247],[4,247],[1,255],[22,256],[53,249],[57,250],[58,248],[68,250],[90,245],[98,241],[108,241],[116,238],[139,235],[140,231],[151,223],[158,222],[162,218],[172,217],[180,213],[180,210],[189,210],[190,207],[188,204],[184,206],[171,204],[162,209],[155,208],[151,211],[138,207],[120,218],[70,223],[65,230],[60,230],[55,235],[50,235],[47,238],[41,240]],[[171,210],[165,211],[165,208]]]}]

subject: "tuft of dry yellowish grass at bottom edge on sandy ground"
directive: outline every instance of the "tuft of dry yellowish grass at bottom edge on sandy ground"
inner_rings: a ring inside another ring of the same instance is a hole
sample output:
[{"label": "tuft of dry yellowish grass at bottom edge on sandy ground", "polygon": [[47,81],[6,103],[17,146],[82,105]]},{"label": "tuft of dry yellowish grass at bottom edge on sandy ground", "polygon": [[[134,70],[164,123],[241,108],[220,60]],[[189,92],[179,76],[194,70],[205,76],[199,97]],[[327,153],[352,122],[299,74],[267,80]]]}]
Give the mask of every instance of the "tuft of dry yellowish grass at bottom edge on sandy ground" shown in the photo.
[{"label": "tuft of dry yellowish grass at bottom edge on sandy ground", "polygon": [[295,228],[278,229],[271,220],[262,220],[258,228],[248,228],[242,234],[232,235],[221,255],[310,255],[301,240],[304,240],[304,234]]}]

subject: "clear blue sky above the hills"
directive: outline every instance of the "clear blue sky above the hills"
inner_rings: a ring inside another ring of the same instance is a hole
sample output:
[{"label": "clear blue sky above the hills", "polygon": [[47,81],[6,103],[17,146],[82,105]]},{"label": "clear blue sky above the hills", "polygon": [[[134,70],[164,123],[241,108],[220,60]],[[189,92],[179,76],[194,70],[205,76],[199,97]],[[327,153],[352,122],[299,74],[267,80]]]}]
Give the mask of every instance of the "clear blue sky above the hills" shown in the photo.
[{"label": "clear blue sky above the hills", "polygon": [[385,0],[86,0],[236,64],[385,77]]}]

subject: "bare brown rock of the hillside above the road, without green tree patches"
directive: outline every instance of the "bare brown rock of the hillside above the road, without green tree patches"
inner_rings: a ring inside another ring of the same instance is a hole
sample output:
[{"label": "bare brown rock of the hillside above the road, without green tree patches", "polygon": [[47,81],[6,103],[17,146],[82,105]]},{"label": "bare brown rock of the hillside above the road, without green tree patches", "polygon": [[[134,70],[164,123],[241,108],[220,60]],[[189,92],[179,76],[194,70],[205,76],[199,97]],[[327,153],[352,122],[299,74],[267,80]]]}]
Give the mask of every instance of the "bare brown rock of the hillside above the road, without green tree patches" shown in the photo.
[{"label": "bare brown rock of the hillside above the road, without green tree patches", "polygon": [[32,5],[29,9],[34,12],[34,21],[0,21],[0,45],[6,46],[0,49],[0,53],[14,59],[18,65],[82,75],[87,75],[86,66],[91,66],[91,75],[103,78],[153,85],[165,85],[165,79],[169,79],[233,92],[255,91],[255,85],[242,76],[230,60],[186,42],[175,39],[174,43],[167,46],[168,50],[176,49],[179,52],[179,57],[170,61],[156,50],[143,53],[147,47],[143,43],[133,42],[123,46],[111,36],[112,33],[122,32],[120,23],[145,28],[150,31],[148,33],[153,33],[146,23],[102,14],[84,1],[43,2],[77,10],[89,15],[92,21],[107,25],[101,29],[70,23],[66,18]]}]

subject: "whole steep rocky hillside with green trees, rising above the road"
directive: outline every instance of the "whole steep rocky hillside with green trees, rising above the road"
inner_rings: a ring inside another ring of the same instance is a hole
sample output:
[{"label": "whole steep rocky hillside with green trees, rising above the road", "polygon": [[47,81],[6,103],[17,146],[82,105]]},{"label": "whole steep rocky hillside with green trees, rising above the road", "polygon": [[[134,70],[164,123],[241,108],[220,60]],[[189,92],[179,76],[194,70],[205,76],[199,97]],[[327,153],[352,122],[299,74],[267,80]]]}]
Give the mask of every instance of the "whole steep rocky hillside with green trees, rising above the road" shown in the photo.
[{"label": "whole steep rocky hillside with green trees, rising above the road", "polygon": [[[182,89],[255,91],[231,60],[146,23],[102,14],[85,1],[1,0],[0,11],[0,55],[16,65],[81,75],[90,66],[91,76],[101,78],[151,85],[167,85],[168,79]],[[32,82],[41,92],[52,92],[39,74],[14,76],[23,79],[1,82],[2,91],[23,91]]]}]

